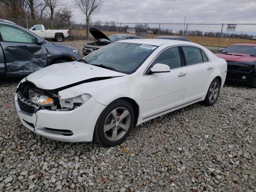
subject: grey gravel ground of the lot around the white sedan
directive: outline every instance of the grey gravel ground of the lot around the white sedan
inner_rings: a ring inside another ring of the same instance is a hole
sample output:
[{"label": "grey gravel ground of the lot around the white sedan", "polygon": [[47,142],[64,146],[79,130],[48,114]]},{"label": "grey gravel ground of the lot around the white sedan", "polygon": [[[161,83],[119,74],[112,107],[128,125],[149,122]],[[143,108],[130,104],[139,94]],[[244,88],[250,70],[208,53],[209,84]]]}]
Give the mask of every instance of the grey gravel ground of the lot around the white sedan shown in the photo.
[{"label": "grey gravel ground of the lot around the white sedan", "polygon": [[0,191],[256,192],[256,89],[225,85],[214,106],[150,120],[120,146],[103,148],[22,126],[14,106],[19,81],[0,80]]}]

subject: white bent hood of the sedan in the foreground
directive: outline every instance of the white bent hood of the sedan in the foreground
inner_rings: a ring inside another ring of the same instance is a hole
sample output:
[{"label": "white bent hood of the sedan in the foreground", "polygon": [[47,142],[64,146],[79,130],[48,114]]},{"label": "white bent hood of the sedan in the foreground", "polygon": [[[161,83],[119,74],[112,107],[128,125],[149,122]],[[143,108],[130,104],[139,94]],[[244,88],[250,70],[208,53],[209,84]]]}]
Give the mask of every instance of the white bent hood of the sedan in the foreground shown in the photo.
[{"label": "white bent hood of the sedan in the foreground", "polygon": [[53,90],[92,78],[111,78],[124,75],[126,74],[75,61],[42,68],[30,74],[26,80],[38,88]]}]

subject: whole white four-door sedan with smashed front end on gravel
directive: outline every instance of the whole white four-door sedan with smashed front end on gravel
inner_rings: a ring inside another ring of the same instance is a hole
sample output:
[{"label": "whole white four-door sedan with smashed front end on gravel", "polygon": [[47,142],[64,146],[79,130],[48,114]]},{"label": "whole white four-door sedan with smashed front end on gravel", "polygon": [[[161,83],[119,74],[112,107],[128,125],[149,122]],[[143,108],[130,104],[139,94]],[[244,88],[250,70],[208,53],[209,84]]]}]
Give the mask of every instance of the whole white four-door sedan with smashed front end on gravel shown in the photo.
[{"label": "whole white four-door sedan with smashed front end on gravel", "polygon": [[30,74],[15,104],[38,135],[109,147],[150,119],[199,101],[213,105],[226,71],[225,60],[192,42],[122,40]]}]

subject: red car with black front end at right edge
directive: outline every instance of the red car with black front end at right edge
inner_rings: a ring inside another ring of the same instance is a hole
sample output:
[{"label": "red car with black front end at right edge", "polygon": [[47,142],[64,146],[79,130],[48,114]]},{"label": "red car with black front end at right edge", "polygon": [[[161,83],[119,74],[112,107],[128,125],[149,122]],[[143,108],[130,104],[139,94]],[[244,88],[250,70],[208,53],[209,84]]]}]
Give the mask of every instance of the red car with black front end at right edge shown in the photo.
[{"label": "red car with black front end at right edge", "polygon": [[227,81],[256,88],[256,44],[233,44],[215,55],[228,64]]}]

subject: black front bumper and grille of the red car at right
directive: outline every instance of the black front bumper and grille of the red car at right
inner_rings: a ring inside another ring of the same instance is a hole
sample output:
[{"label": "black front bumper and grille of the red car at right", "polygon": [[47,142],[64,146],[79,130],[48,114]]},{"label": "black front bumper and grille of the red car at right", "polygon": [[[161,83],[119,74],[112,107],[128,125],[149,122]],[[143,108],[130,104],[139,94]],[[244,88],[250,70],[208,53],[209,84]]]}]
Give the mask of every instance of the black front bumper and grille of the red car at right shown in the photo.
[{"label": "black front bumper and grille of the red car at right", "polygon": [[256,78],[255,64],[227,61],[227,81],[251,83]]}]

